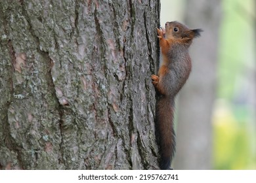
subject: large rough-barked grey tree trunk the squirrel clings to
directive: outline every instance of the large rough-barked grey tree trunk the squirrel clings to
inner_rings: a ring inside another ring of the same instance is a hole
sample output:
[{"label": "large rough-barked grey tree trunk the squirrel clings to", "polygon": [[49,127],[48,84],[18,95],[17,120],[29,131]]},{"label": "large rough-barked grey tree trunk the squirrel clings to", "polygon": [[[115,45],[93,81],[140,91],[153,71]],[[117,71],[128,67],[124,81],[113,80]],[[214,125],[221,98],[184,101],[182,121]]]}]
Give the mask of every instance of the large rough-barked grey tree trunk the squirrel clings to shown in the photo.
[{"label": "large rough-barked grey tree trunk the squirrel clings to", "polygon": [[158,169],[159,1],[0,10],[0,168]]}]

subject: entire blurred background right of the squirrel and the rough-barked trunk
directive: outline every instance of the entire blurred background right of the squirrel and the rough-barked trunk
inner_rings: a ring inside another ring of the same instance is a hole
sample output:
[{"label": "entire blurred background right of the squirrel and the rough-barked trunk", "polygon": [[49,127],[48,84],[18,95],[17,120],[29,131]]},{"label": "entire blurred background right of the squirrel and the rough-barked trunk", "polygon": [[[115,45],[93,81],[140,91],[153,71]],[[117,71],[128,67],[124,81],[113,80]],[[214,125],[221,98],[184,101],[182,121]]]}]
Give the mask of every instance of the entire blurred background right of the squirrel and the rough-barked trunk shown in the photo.
[{"label": "entire blurred background right of the squirrel and the rough-barked trunk", "polygon": [[161,26],[177,20],[202,37],[177,99],[174,169],[256,169],[255,0],[161,0]]}]

